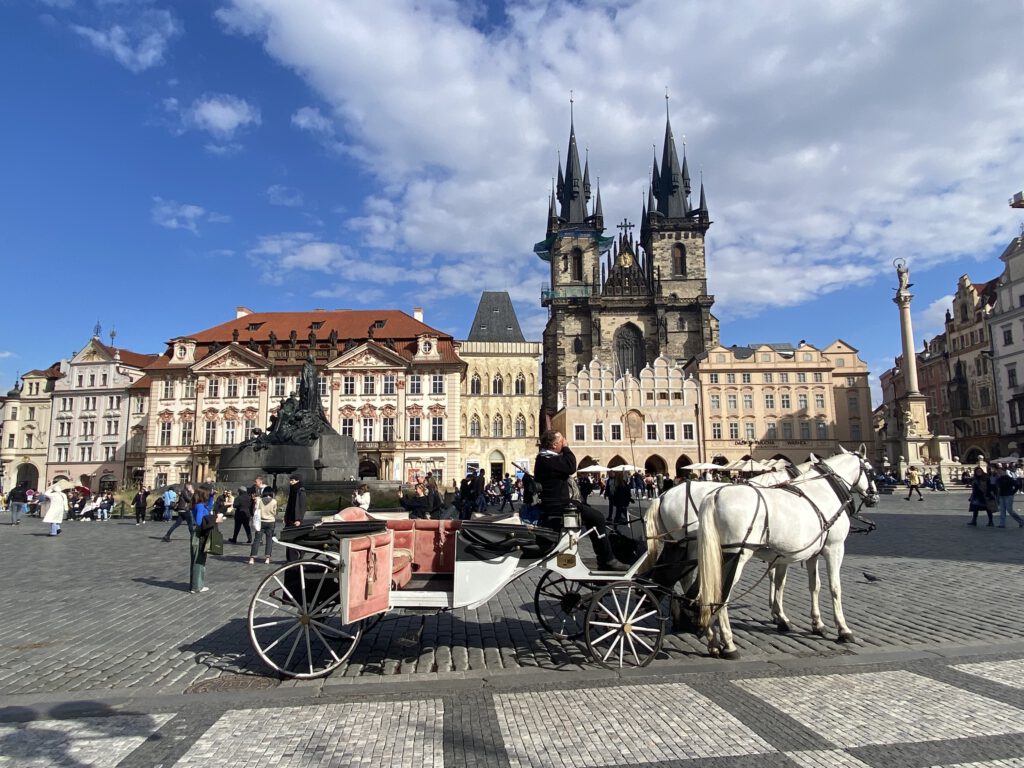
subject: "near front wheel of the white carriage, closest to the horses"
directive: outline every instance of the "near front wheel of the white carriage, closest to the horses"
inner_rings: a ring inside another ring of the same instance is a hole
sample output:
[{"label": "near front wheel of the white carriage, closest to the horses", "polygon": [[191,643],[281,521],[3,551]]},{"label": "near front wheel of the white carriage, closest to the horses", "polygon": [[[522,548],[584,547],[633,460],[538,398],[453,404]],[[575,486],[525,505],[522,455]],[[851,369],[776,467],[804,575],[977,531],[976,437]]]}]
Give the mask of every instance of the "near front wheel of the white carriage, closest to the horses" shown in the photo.
[{"label": "near front wheel of the white carriage, closest to the horses", "polygon": [[662,601],[646,587],[615,582],[598,592],[586,620],[587,648],[604,667],[646,667],[662,649]]}]

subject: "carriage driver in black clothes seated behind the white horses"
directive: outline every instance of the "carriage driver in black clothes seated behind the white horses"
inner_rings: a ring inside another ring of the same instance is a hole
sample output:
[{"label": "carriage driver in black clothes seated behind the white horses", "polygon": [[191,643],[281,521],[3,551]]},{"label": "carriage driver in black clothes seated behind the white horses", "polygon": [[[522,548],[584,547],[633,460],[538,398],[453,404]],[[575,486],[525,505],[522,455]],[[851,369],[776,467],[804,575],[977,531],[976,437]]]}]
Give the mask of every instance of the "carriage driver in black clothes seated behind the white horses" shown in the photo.
[{"label": "carriage driver in black clothes seated behind the white horses", "polygon": [[[541,452],[534,464],[534,477],[541,484],[541,524],[557,526],[569,506],[569,477],[575,473],[577,459],[562,434],[549,429],[541,435]],[[615,559],[608,543],[604,516],[593,507],[577,503],[580,520],[590,534],[598,568],[601,570],[629,570]]]}]

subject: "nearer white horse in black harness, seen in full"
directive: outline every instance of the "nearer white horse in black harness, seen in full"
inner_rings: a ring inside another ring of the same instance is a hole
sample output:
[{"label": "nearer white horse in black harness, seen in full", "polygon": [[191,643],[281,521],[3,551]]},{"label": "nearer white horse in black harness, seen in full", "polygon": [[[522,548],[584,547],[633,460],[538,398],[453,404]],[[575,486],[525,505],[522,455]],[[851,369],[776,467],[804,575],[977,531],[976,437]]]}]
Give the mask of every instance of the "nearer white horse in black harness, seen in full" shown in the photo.
[{"label": "nearer white horse in black harness, seen in full", "polygon": [[[697,515],[697,550],[700,624],[708,628],[709,650],[726,658],[738,657],[729,625],[728,600],[751,557],[775,566],[775,601],[781,606],[784,567],[806,561],[811,592],[811,625],[824,630],[818,607],[817,558],[823,556],[839,640],[853,639],[843,615],[840,566],[850,532],[853,493],[864,505],[878,503],[871,467],[861,454],[842,453],[825,459],[816,470],[801,475],[782,487],[761,488],[731,485],[705,497]],[[723,584],[723,550],[734,554],[731,583]],[[781,614],[784,620],[784,614]],[[718,617],[720,638],[714,627]]]}]

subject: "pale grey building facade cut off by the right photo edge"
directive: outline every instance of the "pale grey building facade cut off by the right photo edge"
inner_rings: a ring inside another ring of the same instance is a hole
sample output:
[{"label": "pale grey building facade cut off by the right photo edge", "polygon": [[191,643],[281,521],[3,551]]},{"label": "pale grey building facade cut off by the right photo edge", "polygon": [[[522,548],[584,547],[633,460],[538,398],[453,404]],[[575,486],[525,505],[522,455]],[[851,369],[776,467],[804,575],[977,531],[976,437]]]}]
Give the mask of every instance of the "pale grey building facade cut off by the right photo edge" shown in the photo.
[{"label": "pale grey building facade cut off by the right photo edge", "polygon": [[1014,238],[999,259],[1002,274],[988,317],[998,453],[1024,456],[1024,237]]}]

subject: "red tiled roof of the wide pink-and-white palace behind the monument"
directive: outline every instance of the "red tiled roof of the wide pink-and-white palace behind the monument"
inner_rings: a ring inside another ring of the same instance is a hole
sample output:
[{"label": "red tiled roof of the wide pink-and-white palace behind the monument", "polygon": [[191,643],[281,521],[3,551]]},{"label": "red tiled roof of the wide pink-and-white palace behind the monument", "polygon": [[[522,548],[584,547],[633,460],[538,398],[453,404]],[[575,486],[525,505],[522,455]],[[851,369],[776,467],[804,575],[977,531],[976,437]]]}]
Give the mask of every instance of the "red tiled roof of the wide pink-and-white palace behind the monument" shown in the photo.
[{"label": "red tiled roof of the wide pink-and-white palace behind the monument", "polygon": [[[378,324],[383,324],[377,327]],[[314,324],[319,324],[314,328]],[[194,334],[182,334],[182,339],[194,339],[197,342],[196,359],[201,360],[213,351],[213,346],[226,346],[232,341],[247,345],[254,341],[261,347],[262,355],[270,344],[270,334],[273,333],[279,346],[289,343],[292,331],[296,334],[296,345],[305,348],[309,344],[309,332],[315,331],[317,345],[326,343],[332,331],[338,334],[337,350],[345,349],[347,341],[364,343],[370,340],[370,328],[373,327],[373,341],[384,345],[393,342],[394,351],[407,360],[416,355],[417,338],[429,334],[437,338],[439,361],[445,365],[462,365],[455,339],[451,334],[438,331],[412,315],[398,309],[334,309],[312,310],[307,312],[252,312],[242,317],[236,317],[219,326],[208,328]],[[251,329],[251,330],[250,330]],[[238,338],[236,340],[236,332]],[[167,351],[152,362],[147,370],[158,371],[167,368],[171,362],[172,350]]]}]

